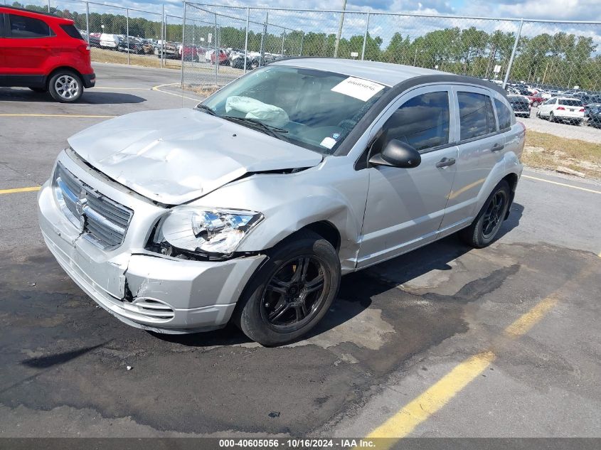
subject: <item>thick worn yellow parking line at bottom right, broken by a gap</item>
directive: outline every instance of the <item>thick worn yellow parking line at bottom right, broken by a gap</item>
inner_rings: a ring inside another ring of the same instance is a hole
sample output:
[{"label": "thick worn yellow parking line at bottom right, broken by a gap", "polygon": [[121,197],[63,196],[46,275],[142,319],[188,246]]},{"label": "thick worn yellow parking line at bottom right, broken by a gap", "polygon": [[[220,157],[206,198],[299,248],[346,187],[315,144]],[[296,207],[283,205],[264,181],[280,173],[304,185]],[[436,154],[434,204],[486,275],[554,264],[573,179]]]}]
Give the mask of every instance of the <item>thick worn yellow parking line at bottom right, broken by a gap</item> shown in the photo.
[{"label": "thick worn yellow parking line at bottom right, broken by a gap", "polygon": [[[505,328],[505,336],[509,338],[523,336],[556,303],[555,296],[543,299],[530,311]],[[378,443],[378,450],[390,449],[398,439],[408,436],[417,425],[425,422],[432,414],[447,405],[469,382],[481,375],[495,358],[496,355],[492,350],[486,350],[463,360],[425,392],[411,400],[393,417],[374,429],[366,439],[388,438]]]}]

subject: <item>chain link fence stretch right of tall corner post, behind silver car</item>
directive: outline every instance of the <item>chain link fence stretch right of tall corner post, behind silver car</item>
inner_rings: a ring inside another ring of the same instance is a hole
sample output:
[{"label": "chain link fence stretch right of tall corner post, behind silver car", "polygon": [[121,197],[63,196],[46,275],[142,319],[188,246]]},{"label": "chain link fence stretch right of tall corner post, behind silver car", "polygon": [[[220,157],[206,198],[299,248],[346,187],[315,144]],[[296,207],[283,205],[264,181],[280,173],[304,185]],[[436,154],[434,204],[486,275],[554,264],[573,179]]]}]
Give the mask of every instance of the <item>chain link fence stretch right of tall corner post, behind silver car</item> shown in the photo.
[{"label": "chain link fence stretch right of tall corner post, behind silver car", "polygon": [[[210,25],[196,28],[195,21]],[[184,23],[184,45],[198,45],[201,36],[209,53],[227,55],[186,65],[182,82],[192,89],[220,87],[272,60],[302,55],[432,68],[506,83],[524,95],[601,95],[601,22],[186,3]]]}]

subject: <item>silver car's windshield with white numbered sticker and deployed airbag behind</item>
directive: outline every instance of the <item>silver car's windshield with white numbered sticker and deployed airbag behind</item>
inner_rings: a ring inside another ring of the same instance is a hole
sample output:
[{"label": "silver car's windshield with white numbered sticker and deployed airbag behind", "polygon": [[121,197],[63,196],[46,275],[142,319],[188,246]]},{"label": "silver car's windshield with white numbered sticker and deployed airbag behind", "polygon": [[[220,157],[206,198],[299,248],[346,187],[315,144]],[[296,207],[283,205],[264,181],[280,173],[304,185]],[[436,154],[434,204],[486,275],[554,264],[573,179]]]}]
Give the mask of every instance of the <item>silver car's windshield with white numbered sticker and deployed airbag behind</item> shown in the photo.
[{"label": "silver car's windshield with white numbered sticker and deployed airbag behind", "polygon": [[388,89],[339,73],[274,65],[225,86],[208,97],[202,109],[211,108],[220,117],[306,149],[333,154]]}]

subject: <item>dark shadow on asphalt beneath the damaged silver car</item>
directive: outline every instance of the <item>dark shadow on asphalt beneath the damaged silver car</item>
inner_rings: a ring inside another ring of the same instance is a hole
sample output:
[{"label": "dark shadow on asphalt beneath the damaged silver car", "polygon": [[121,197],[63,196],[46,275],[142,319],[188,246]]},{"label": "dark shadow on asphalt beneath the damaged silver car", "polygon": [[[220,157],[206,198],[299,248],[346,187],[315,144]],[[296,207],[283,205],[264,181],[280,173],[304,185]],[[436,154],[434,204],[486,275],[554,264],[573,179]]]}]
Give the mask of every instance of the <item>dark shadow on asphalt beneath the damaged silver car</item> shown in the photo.
[{"label": "dark shadow on asphalt beneath the damaged silver car", "polygon": [[[497,239],[503,237],[519,225],[523,210],[523,205],[518,203],[511,205],[509,218],[501,226]],[[309,331],[309,333],[292,343],[319,336],[350,321],[365,309],[368,309],[374,297],[383,294],[385,291],[394,289],[395,286],[410,282],[432,270],[452,270],[452,266],[449,263],[471,250],[473,248],[465,245],[459,240],[457,233],[455,233],[437,242],[432,242],[432,244],[425,247],[413,250],[413,252],[408,252],[405,255],[400,255],[386,262],[376,264],[369,269],[346,275],[342,278],[339,294],[334,300],[329,314],[326,314],[321,322]],[[378,270],[378,267],[381,270]],[[378,272],[384,272],[389,267],[394,267],[394,283],[377,276]],[[206,333],[184,335],[149,333],[163,341],[193,347],[208,348],[221,345],[252,344],[252,341],[233,323],[228,323],[225,328],[221,328],[220,330]]]}]

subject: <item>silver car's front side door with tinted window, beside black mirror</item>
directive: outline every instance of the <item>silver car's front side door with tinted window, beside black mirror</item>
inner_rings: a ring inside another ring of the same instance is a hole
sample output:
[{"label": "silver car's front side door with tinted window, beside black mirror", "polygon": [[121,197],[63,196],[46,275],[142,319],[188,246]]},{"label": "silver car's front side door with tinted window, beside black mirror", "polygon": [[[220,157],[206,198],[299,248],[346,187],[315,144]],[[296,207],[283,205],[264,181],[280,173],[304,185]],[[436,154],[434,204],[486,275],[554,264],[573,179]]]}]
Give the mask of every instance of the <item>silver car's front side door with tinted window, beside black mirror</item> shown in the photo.
[{"label": "silver car's front side door with tinted window, beside black mirror", "polygon": [[[446,116],[433,107],[445,96]],[[380,147],[388,139],[401,139],[415,144],[422,161],[415,168],[363,169],[369,172],[369,191],[357,267],[435,240],[457,171],[457,146],[448,144],[453,127],[449,117],[454,114],[450,89],[433,85],[405,93],[376,122],[371,136],[380,135],[376,140]]]}]

